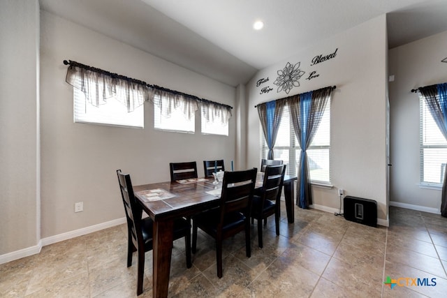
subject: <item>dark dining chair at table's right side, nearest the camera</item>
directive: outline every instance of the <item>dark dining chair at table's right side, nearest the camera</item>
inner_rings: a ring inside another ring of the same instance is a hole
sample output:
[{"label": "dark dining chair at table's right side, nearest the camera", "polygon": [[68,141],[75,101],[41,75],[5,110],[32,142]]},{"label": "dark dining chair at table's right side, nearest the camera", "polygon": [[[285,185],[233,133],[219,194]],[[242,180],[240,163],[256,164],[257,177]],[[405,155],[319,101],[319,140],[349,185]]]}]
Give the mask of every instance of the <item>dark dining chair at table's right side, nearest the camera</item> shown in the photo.
[{"label": "dark dining chair at table's right side, nearest the camera", "polygon": [[203,230],[216,241],[217,276],[222,277],[222,241],[245,230],[245,253],[251,256],[250,211],[256,184],[256,172],[251,170],[225,172],[219,207],[193,216],[193,245],[196,253],[197,230]]}]

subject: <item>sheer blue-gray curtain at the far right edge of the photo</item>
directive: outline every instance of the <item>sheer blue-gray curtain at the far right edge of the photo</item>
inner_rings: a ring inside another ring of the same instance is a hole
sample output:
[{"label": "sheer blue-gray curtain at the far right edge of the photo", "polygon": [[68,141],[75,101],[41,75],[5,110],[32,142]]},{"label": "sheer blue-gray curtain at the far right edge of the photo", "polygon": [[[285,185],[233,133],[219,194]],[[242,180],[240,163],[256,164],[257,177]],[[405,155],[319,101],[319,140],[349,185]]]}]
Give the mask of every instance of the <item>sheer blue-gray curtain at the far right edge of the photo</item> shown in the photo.
[{"label": "sheer blue-gray curtain at the far right edge of the photo", "polygon": [[[430,114],[447,140],[447,83],[420,87],[419,94],[425,100]],[[442,185],[441,215],[447,217],[447,170],[444,171]]]}]

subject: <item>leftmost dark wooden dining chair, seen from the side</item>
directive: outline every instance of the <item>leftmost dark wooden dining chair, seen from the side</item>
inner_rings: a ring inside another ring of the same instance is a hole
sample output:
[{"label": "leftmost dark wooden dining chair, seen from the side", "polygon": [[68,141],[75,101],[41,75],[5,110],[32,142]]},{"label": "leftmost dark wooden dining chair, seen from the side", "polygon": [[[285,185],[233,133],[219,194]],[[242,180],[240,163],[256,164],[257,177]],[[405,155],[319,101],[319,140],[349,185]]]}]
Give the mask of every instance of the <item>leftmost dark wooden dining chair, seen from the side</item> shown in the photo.
[{"label": "leftmost dark wooden dining chair, seen from the side", "polygon": [[[127,267],[132,266],[133,252],[138,254],[138,282],[137,295],[142,293],[143,273],[145,270],[145,253],[152,251],[154,239],[152,236],[153,221],[151,218],[142,218],[142,207],[135,201],[131,176],[117,170],[119,189],[121,191],[127,219]],[[191,222],[184,218],[174,221],[173,239],[184,237],[186,250],[186,267],[191,268]]]}]

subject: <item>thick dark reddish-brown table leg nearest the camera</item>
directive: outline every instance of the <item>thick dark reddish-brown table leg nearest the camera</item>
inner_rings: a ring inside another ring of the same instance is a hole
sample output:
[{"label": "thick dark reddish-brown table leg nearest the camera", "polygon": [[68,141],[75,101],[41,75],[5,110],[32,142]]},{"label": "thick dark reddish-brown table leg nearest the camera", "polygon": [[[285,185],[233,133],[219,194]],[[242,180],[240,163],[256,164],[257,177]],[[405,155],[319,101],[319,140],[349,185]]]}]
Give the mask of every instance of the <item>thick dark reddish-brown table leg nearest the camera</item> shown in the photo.
[{"label": "thick dark reddish-brown table leg nearest the camera", "polygon": [[173,221],[154,221],[154,285],[152,297],[168,297],[170,258],[173,250]]}]

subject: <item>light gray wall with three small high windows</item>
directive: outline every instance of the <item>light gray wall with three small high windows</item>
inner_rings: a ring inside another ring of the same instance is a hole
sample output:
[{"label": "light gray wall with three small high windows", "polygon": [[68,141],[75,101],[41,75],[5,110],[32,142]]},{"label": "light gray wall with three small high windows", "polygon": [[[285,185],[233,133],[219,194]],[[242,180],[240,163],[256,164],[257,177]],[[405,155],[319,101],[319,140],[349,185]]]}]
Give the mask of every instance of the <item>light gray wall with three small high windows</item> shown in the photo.
[{"label": "light gray wall with three small high windows", "polygon": [[[235,117],[229,136],[154,130],[153,104],[145,104],[145,128],[73,123],[73,87],[64,59],[235,107],[235,88],[156,58],[117,40],[41,12],[42,237],[54,237],[124,217],[115,170],[133,184],[170,179],[169,163],[235,159]],[[236,108],[236,107],[235,107]],[[75,202],[84,211],[74,212]]]}]

